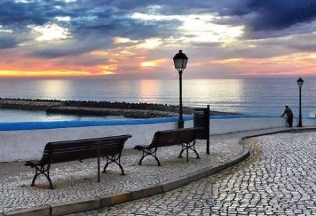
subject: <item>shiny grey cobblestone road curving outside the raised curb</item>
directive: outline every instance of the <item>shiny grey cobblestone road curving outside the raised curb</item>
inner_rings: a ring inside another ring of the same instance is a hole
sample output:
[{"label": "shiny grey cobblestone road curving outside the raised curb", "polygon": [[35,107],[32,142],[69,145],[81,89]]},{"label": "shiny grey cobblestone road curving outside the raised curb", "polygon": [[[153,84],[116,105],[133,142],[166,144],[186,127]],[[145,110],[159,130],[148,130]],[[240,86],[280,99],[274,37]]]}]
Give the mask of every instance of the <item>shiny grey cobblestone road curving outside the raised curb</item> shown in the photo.
[{"label": "shiny grey cobblestone road curving outside the raised curb", "polygon": [[258,144],[253,144],[256,155],[229,171],[76,215],[316,215],[316,132],[272,134],[251,141]]}]

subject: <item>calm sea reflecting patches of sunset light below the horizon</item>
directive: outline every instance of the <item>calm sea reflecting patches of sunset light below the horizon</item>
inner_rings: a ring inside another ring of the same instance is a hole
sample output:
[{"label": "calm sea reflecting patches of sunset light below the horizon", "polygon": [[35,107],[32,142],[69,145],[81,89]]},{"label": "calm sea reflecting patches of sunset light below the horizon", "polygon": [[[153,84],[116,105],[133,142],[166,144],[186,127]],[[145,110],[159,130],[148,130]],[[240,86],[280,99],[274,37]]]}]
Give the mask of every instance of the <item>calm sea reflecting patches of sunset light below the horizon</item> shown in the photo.
[{"label": "calm sea reflecting patches of sunset light below the horizon", "polygon": [[[284,111],[284,105],[289,104],[294,115],[298,116],[300,91],[296,80],[297,78],[289,77],[183,79],[183,106],[205,107],[210,105],[210,109],[216,111],[280,116]],[[315,117],[316,78],[304,80],[302,115],[303,117]],[[179,80],[0,80],[0,97],[178,105]],[[0,110],[0,122],[8,121],[14,116],[19,116],[21,119],[22,116],[27,115],[27,112],[25,110]],[[35,112],[29,113],[34,119],[47,118],[47,115],[41,118],[39,112],[36,112],[36,115]],[[50,117],[52,121],[67,118],[69,119],[69,115]],[[84,117],[73,116],[70,119],[78,118]],[[12,121],[16,121],[15,118]]]}]

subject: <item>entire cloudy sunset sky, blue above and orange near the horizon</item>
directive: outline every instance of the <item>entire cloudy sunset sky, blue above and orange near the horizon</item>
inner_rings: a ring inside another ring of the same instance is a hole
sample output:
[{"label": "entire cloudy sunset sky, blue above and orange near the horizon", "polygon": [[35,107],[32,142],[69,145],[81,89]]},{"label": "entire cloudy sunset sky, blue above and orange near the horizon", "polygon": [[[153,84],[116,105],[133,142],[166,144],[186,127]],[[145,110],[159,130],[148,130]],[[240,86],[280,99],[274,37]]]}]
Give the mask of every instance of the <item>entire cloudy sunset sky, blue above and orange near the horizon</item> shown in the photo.
[{"label": "entire cloudy sunset sky, blue above and orange near the horizon", "polygon": [[316,76],[315,0],[1,0],[0,77]]}]

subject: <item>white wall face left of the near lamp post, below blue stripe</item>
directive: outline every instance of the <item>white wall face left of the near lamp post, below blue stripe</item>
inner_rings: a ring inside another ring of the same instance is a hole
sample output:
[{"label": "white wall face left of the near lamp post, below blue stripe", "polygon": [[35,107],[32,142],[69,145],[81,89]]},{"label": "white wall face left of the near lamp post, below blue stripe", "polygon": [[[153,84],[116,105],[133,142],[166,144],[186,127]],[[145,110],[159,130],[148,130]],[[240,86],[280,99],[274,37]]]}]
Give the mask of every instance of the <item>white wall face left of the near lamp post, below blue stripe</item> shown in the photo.
[{"label": "white wall face left of the near lamp post, below blue stripe", "polygon": [[109,125],[46,130],[0,131],[0,162],[39,159],[49,141],[89,139],[104,136],[131,134],[126,148],[149,144],[158,130],[176,128],[177,123],[154,123],[146,125]]}]

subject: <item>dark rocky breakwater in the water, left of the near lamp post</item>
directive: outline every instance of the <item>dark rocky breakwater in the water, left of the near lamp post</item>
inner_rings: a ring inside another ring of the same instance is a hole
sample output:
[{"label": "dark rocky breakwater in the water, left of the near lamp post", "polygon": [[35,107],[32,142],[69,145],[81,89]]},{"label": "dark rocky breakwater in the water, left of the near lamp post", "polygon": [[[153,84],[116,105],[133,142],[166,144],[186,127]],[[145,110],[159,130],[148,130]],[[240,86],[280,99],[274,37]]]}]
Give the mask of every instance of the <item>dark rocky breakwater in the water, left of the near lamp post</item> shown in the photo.
[{"label": "dark rocky breakwater in the water, left of the near lamp post", "polygon": [[160,104],[133,104],[124,102],[111,103],[108,101],[58,101],[40,99],[0,99],[0,108],[45,110],[46,112],[78,115],[117,115],[142,119],[172,117],[175,116],[177,112],[176,106]]}]

